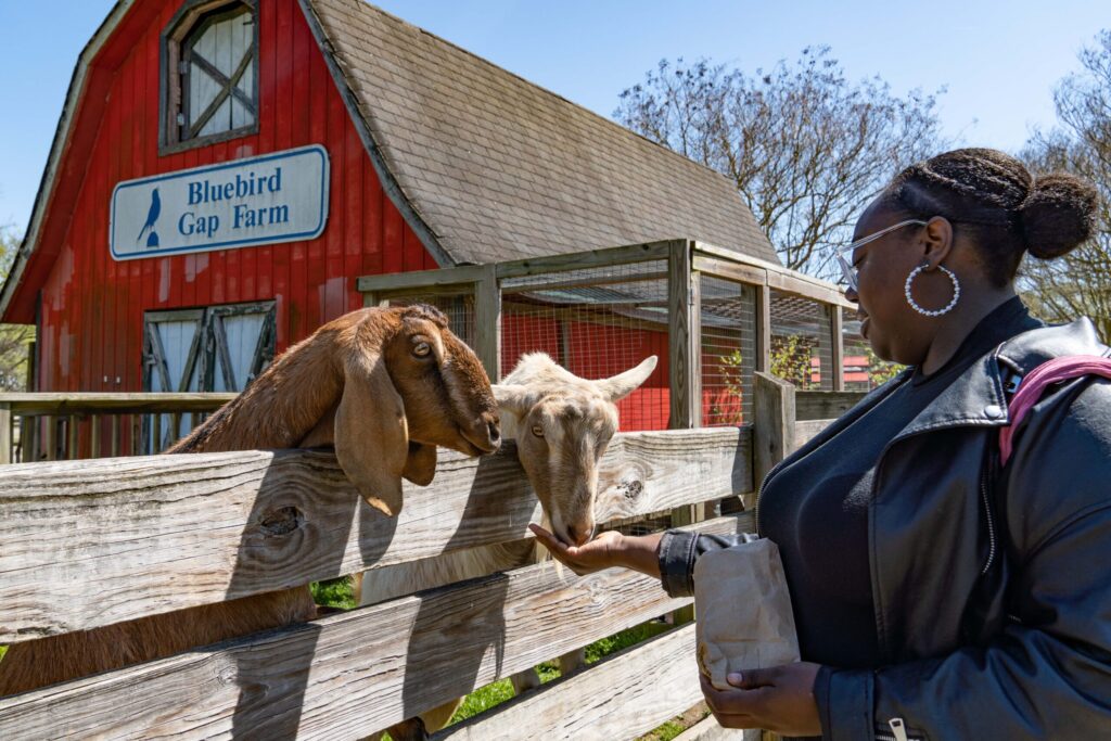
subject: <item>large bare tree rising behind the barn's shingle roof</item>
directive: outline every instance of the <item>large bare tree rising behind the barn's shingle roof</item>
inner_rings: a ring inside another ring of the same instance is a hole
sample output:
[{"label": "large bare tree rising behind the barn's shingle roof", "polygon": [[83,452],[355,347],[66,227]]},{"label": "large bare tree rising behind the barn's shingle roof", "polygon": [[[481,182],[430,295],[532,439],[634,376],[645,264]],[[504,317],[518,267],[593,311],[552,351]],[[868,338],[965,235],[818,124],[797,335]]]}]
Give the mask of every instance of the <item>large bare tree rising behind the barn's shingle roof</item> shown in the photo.
[{"label": "large bare tree rising behind the barn's shingle roof", "polygon": [[663,60],[613,116],[728,177],[783,263],[827,277],[825,248],[899,168],[943,147],[934,94],[852,83],[827,47],[754,74]]}]

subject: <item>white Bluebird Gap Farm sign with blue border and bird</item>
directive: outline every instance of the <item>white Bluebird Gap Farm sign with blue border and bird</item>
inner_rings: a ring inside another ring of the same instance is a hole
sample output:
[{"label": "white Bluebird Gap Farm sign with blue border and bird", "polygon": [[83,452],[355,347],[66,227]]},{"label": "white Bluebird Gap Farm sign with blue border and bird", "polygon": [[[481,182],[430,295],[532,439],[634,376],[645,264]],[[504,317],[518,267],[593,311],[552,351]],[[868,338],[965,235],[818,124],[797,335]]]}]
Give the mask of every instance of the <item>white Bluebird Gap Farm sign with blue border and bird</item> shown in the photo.
[{"label": "white Bluebird Gap Farm sign with blue border and bird", "polygon": [[127,180],[112,191],[117,260],[319,237],[328,219],[328,152],[283,152]]}]

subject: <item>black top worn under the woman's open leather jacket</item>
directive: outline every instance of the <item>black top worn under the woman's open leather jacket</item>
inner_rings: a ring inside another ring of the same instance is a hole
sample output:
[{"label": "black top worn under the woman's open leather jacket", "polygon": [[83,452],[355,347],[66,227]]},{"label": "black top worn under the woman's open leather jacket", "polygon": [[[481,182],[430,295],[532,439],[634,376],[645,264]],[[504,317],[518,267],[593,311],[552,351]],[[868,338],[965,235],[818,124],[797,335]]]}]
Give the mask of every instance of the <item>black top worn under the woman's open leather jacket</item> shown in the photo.
[{"label": "black top worn under the woman's open leather jacket", "polygon": [[1018,299],[983,318],[929,375],[915,370],[875,408],[777,471],[760,497],[761,535],[779,545],[799,649],[842,669],[880,665],[868,548],[868,503],[884,448],[977,359],[1039,327]]}]

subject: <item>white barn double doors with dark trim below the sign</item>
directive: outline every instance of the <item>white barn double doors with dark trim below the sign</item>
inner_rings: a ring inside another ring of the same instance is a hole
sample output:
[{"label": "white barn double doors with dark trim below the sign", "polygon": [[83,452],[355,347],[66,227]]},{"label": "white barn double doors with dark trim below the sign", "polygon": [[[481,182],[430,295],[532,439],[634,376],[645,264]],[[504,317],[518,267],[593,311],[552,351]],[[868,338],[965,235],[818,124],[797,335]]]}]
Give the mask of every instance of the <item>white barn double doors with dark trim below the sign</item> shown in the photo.
[{"label": "white barn double doors with dark trim below the sign", "polygon": [[[274,354],[276,307],[259,301],[208,309],[149,311],[143,327],[143,391],[242,391]],[[157,453],[199,419],[148,414],[143,453]]]}]

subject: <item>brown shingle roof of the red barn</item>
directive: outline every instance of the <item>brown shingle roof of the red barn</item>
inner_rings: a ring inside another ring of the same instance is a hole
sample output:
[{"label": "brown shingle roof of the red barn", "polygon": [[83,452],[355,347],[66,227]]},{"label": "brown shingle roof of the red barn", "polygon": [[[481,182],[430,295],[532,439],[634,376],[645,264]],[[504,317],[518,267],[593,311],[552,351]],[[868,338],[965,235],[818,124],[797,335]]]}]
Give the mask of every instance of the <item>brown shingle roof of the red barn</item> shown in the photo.
[{"label": "brown shingle roof of the red barn", "polygon": [[685,237],[780,263],[719,173],[362,0],[302,6],[387,187],[450,261]]}]

